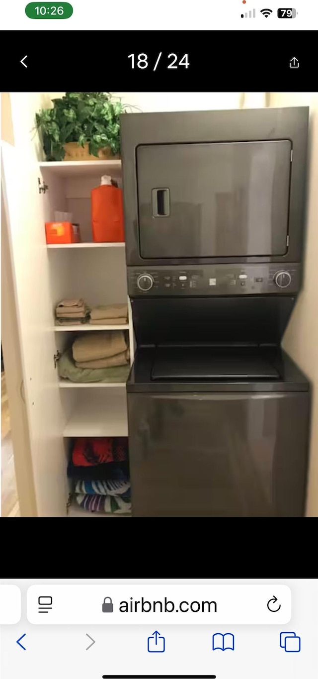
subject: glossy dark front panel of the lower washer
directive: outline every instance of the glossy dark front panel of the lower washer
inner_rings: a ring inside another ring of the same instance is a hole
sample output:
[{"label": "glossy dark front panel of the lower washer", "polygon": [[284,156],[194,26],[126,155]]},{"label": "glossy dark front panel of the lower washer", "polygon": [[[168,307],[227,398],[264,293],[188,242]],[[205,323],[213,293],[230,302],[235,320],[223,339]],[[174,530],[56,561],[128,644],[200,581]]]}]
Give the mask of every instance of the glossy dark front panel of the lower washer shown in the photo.
[{"label": "glossy dark front panel of the lower washer", "polygon": [[302,516],[308,392],[128,393],[134,516]]}]

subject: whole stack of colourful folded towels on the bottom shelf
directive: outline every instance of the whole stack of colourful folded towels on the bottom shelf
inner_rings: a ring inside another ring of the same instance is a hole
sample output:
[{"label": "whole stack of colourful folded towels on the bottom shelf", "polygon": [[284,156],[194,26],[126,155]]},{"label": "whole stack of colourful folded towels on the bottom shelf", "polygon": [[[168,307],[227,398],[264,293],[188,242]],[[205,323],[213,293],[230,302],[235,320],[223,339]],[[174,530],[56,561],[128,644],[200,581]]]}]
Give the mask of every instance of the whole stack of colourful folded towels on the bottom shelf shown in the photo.
[{"label": "whole stack of colourful folded towels on the bottom shelf", "polygon": [[126,438],[77,439],[68,477],[77,504],[88,511],[130,513],[130,478]]}]

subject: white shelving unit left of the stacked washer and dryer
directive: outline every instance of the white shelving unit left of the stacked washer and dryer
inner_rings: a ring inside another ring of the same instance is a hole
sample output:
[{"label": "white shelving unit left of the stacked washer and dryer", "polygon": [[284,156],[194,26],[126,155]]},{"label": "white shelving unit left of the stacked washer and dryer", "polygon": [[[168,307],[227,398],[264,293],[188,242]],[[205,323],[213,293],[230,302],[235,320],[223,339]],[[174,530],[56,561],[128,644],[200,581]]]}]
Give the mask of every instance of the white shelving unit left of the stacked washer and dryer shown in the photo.
[{"label": "white shelving unit left of the stacked washer and dryer", "polygon": [[[18,200],[17,168],[24,178]],[[131,363],[134,360],[129,301],[125,325],[54,324],[60,299],[83,297],[90,307],[128,300],[125,244],[92,240],[90,196],[102,175],[120,179],[121,161],[38,163],[34,157],[21,157],[10,145],[3,149],[5,211],[23,338],[23,396],[39,517],[106,517],[75,505],[67,511],[70,486],[65,469],[70,439],[127,436],[124,383],[66,382],[58,378],[54,367],[56,352],[70,346],[76,333],[83,331],[125,330]],[[47,246],[45,221],[54,221],[56,211],[73,214],[80,225],[81,243]]]}]

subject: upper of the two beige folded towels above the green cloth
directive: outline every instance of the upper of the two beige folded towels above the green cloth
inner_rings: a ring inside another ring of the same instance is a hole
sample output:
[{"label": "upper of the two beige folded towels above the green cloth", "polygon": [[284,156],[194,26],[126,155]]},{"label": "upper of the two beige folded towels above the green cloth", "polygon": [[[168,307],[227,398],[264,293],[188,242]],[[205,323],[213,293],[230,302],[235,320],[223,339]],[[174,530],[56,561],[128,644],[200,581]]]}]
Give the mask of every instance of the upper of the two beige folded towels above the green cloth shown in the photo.
[{"label": "upper of the two beige folded towels above the green cloth", "polygon": [[77,363],[98,361],[116,356],[127,350],[125,335],[121,330],[105,330],[97,333],[83,333],[73,342],[73,359]]}]

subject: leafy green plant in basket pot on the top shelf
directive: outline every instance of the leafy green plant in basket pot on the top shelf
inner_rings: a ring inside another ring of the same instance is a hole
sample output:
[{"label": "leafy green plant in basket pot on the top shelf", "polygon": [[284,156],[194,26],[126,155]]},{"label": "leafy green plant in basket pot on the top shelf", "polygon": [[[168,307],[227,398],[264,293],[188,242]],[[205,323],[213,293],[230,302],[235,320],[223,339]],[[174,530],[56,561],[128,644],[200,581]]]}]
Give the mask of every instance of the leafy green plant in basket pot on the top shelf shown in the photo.
[{"label": "leafy green plant in basket pot on the top shelf", "polygon": [[46,160],[120,158],[119,115],[127,111],[110,92],[66,92],[36,114]]}]

